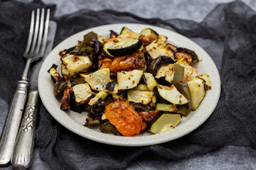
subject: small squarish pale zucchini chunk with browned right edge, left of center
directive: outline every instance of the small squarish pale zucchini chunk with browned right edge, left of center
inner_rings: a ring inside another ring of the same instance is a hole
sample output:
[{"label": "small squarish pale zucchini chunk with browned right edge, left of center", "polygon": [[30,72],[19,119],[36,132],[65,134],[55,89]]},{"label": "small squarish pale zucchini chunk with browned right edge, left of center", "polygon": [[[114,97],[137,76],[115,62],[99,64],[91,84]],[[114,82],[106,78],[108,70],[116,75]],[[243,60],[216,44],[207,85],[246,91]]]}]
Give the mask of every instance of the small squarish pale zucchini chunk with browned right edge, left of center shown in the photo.
[{"label": "small squarish pale zucchini chunk with browned right edge, left of center", "polygon": [[73,86],[73,92],[75,95],[76,105],[81,105],[90,101],[90,98],[94,95],[90,89],[89,84],[78,84]]}]

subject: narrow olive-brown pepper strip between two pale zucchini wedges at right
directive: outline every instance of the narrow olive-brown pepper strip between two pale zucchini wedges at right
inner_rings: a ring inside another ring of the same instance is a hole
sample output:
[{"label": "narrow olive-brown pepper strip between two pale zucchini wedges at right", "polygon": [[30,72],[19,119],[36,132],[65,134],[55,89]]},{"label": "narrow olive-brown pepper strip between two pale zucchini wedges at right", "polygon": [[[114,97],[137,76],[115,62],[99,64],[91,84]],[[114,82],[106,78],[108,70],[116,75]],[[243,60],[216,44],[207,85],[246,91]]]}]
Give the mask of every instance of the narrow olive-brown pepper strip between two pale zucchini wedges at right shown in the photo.
[{"label": "narrow olive-brown pepper strip between two pale zucchini wedges at right", "polygon": [[188,88],[188,82],[187,81],[179,81],[176,82],[174,84],[174,86],[176,86],[176,88],[178,89],[178,91],[181,92],[181,94],[188,100],[188,103],[186,104],[186,108],[188,108],[188,110],[191,110],[191,94]]}]

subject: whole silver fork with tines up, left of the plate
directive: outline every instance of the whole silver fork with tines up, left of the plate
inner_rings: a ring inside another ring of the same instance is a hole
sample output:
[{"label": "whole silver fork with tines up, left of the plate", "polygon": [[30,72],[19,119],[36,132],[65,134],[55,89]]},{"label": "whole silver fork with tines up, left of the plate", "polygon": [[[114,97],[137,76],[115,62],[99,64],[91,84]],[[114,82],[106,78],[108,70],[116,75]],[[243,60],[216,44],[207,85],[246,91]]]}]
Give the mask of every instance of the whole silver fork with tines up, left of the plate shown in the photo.
[{"label": "whole silver fork with tines up, left of the plate", "polygon": [[21,81],[17,82],[16,92],[11,102],[11,107],[6,118],[4,130],[0,140],[0,165],[8,164],[14,150],[14,144],[21,123],[23,108],[26,103],[28,89],[28,73],[31,62],[39,60],[43,57],[46,50],[46,42],[48,36],[48,26],[50,18],[50,9],[47,9],[46,20],[45,10],[32,11],[31,26],[28,35],[28,42],[23,57],[26,58],[26,67],[21,76]]}]

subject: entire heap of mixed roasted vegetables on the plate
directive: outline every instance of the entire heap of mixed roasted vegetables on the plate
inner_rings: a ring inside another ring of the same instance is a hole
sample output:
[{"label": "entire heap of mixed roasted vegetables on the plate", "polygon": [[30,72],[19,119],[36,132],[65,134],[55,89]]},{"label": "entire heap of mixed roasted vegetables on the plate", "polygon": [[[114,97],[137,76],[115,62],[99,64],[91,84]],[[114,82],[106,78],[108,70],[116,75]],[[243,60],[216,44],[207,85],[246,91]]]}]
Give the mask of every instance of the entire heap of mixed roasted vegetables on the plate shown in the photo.
[{"label": "entire heap of mixed roasted vegetables on the plate", "polygon": [[60,57],[61,73],[55,64],[48,70],[60,109],[86,111],[85,126],[103,133],[169,131],[211,89],[208,74],[191,66],[199,62],[196,52],[171,45],[151,28],[110,30],[108,38],[90,32]]}]

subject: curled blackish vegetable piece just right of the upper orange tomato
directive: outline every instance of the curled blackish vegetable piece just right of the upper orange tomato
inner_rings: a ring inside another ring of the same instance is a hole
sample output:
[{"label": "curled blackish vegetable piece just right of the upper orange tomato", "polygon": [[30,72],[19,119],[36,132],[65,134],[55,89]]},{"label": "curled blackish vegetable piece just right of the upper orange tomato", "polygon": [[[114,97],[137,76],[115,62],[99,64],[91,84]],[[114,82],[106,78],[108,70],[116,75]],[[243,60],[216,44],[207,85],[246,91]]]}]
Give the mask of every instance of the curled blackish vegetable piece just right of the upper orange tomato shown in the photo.
[{"label": "curled blackish vegetable piece just right of the upper orange tomato", "polygon": [[146,67],[146,71],[150,72],[153,75],[156,75],[157,69],[164,64],[173,64],[175,61],[171,57],[160,56],[152,60],[149,65]]}]

